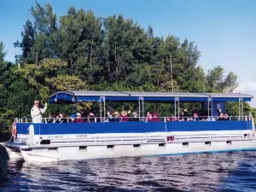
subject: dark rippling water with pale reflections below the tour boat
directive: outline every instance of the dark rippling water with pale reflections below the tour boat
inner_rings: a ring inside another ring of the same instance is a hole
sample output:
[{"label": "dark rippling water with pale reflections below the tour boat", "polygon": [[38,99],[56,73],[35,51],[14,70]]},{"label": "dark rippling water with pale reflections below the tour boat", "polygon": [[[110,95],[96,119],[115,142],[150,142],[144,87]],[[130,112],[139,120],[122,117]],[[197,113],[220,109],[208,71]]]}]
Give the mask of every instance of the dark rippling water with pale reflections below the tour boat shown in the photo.
[{"label": "dark rippling water with pale reflections below the tour boat", "polygon": [[256,191],[256,152],[29,164],[2,161],[0,191]]}]

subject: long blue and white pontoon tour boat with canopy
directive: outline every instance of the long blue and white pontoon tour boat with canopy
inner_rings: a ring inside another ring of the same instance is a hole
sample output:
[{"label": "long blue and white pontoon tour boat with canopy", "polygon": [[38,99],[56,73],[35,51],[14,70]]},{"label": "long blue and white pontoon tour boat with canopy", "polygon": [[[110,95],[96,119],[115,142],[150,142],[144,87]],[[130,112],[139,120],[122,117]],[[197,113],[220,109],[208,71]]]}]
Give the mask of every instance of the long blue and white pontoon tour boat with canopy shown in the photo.
[{"label": "long blue and white pontoon tour boat with canopy", "polygon": [[[50,103],[98,102],[99,117],[90,123],[72,123],[70,120],[48,123],[47,119],[32,123],[30,119],[15,119],[13,141],[2,144],[9,158],[26,161],[253,150],[256,149],[253,118],[243,115],[243,103],[252,98],[240,93],[58,91],[49,96]],[[138,120],[112,122],[113,117],[106,115],[106,103],[111,105],[113,102],[137,102]],[[160,121],[149,121],[145,118],[146,102],[173,105],[175,120],[158,117]],[[179,121],[182,102],[201,103],[201,114],[205,117],[199,118],[205,120],[188,118]],[[226,102],[237,102],[239,115],[218,120],[218,113],[226,111]]]}]

